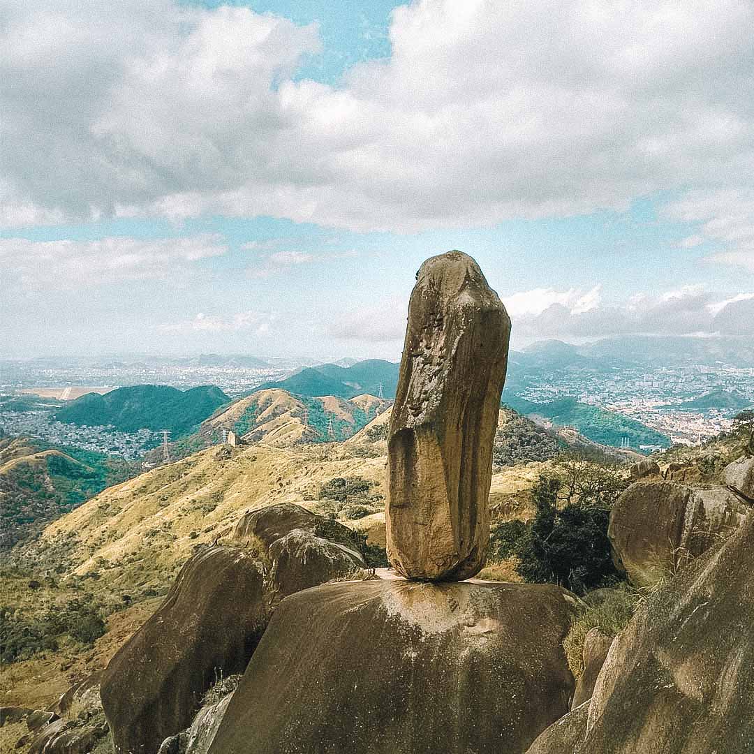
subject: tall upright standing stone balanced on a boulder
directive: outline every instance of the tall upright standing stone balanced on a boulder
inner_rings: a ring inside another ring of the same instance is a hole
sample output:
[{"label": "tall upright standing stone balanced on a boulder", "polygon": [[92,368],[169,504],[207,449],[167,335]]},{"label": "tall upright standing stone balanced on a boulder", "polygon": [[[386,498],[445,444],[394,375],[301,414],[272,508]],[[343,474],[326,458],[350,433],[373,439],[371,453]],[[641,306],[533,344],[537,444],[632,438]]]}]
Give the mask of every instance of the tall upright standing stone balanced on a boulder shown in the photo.
[{"label": "tall upright standing stone balanced on a boulder", "polygon": [[510,319],[474,259],[418,271],[388,434],[388,558],[406,578],[480,571]]}]

